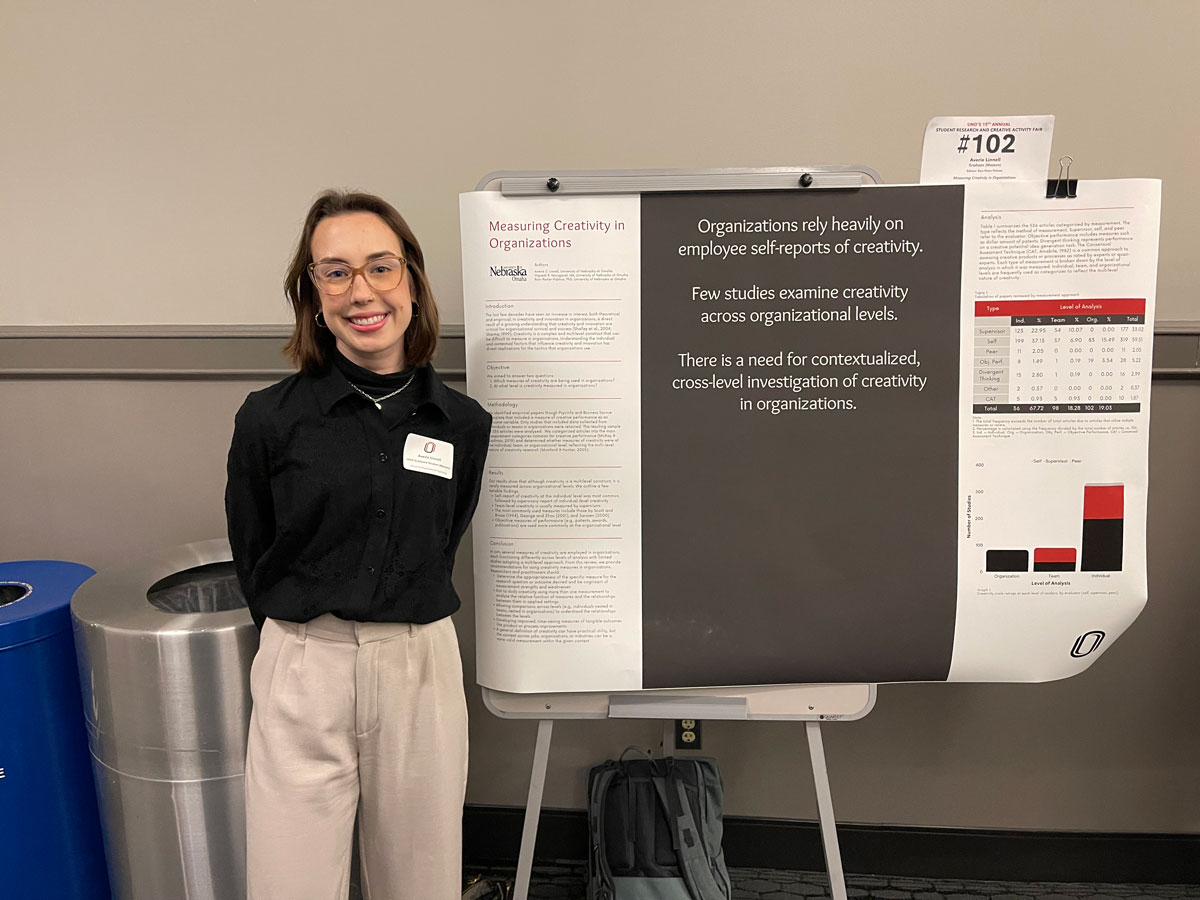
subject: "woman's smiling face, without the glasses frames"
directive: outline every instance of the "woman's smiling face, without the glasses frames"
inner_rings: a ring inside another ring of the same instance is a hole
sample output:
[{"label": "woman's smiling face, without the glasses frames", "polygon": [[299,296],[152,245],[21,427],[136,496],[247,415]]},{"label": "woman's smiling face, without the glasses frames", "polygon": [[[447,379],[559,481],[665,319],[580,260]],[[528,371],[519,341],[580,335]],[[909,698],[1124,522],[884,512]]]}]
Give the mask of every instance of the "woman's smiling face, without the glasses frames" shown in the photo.
[{"label": "woman's smiling face, without the glasses frames", "polygon": [[[374,212],[330,216],[313,229],[313,263],[342,263],[353,269],[385,256],[403,258],[404,248]],[[383,374],[407,366],[404,331],[413,320],[413,280],[407,266],[391,290],[372,288],[359,274],[346,293],[329,295],[318,286],[318,296],[325,324],[343,356]]]}]

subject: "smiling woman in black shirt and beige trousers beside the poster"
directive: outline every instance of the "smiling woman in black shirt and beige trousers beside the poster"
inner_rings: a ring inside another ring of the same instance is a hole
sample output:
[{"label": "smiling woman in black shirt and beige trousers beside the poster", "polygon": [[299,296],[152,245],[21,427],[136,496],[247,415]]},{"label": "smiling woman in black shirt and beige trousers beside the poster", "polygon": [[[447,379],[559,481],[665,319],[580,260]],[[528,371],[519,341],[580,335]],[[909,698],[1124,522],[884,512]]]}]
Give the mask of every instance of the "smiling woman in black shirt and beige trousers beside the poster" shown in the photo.
[{"label": "smiling woman in black shirt and beige trousers beside the poster", "polygon": [[491,416],[428,365],[438,313],[386,202],[328,192],[286,290],[300,370],[229,449],[234,564],[262,629],[246,754],[248,900],[460,895],[467,708],[450,614]]}]

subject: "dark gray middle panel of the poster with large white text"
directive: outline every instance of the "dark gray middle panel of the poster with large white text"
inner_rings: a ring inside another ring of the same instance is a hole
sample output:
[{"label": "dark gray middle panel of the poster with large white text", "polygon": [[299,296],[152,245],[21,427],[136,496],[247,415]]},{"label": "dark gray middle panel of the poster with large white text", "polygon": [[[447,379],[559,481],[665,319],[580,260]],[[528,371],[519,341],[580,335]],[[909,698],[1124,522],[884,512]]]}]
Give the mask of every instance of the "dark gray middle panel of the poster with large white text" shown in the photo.
[{"label": "dark gray middle panel of the poster with large white text", "polygon": [[646,688],[947,677],[962,197],[642,197]]}]

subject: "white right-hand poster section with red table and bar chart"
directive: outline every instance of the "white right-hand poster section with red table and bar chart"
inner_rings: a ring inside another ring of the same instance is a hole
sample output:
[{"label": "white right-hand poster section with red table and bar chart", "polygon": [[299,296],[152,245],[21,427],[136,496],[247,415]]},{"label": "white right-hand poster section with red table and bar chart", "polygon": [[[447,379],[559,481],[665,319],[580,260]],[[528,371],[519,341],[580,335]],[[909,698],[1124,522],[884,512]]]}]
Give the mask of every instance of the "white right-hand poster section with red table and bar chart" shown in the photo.
[{"label": "white right-hand poster section with red table and bar chart", "polygon": [[1146,602],[1160,182],[966,191],[952,680],[1085,670]]}]

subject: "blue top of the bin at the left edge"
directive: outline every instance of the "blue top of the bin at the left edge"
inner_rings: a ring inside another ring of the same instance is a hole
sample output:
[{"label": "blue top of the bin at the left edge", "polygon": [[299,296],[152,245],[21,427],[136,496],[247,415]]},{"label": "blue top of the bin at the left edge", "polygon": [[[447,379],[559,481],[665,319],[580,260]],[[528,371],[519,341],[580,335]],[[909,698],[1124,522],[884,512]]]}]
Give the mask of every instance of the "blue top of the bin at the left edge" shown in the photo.
[{"label": "blue top of the bin at the left edge", "polygon": [[53,559],[0,563],[0,650],[71,628],[71,596],[95,574]]}]

